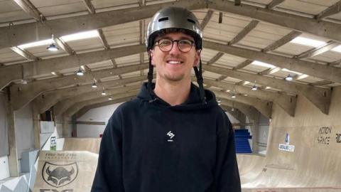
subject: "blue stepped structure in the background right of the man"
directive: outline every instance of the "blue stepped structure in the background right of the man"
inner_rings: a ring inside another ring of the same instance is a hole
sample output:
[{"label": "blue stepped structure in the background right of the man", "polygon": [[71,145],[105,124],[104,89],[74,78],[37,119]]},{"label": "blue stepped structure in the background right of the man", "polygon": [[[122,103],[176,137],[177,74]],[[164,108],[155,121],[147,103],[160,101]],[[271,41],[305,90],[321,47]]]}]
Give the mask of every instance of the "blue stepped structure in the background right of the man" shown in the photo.
[{"label": "blue stepped structure in the background right of the man", "polygon": [[248,129],[234,129],[234,141],[235,141],[237,154],[252,153],[251,147],[249,144],[249,139],[251,138],[252,136],[250,135]]}]

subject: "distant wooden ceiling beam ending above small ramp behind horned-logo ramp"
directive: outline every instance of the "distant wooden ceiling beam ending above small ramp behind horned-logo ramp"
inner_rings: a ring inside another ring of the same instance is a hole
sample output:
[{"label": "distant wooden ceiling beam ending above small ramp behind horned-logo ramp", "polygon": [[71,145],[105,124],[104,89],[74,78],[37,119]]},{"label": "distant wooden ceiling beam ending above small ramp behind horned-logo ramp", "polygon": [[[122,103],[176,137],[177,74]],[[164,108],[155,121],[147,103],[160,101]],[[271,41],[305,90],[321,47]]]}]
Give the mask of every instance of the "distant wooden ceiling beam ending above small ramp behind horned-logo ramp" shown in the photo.
[{"label": "distant wooden ceiling beam ending above small ramp behind horned-logo ramp", "polygon": [[[132,92],[120,93],[117,95],[112,95],[112,100],[118,100],[124,97],[134,97],[134,96],[136,97],[137,93],[138,91],[132,91]],[[81,110],[83,107],[87,105],[93,105],[93,104],[107,102],[107,101],[108,101],[108,97],[99,97],[99,98],[92,99],[92,100],[76,102],[74,105],[68,108],[66,112],[63,113],[63,116],[72,117],[73,114],[75,114],[77,111]]]}]

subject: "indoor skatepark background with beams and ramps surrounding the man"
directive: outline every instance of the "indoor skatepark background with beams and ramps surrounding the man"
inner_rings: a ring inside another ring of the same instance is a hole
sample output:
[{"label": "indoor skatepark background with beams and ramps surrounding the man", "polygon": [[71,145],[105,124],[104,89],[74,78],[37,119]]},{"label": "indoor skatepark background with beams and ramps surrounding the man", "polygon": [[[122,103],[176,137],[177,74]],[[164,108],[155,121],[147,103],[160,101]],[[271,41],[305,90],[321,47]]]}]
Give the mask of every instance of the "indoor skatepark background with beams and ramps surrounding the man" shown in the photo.
[{"label": "indoor skatepark background with beams and ramps surrounding the man", "polygon": [[0,192],[52,191],[60,164],[70,184],[55,190],[90,191],[100,135],[146,81],[146,28],[166,6],[199,19],[205,87],[251,134],[242,190],[341,191],[340,0],[0,0]]}]

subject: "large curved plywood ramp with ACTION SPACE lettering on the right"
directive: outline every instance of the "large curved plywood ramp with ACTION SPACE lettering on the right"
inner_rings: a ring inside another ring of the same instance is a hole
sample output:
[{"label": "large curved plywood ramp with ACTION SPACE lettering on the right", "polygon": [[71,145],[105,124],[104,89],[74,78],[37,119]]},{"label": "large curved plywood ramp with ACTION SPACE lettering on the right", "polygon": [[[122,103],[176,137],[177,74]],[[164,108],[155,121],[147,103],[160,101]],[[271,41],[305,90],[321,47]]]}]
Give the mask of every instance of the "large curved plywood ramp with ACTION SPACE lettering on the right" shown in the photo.
[{"label": "large curved plywood ramp with ACTION SPACE lettering on the right", "polygon": [[[244,191],[341,191],[340,109],[341,87],[332,92],[328,115],[301,96],[295,117],[275,105],[264,164],[255,156],[239,156],[239,166],[245,166],[240,168]],[[286,134],[293,152],[278,150]]]}]

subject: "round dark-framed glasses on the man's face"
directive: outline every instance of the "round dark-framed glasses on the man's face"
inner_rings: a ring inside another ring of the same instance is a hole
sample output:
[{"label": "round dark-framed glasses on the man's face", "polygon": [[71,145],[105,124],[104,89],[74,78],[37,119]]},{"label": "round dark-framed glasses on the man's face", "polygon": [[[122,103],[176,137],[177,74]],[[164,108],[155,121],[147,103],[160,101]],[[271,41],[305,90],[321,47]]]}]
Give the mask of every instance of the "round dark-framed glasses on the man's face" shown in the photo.
[{"label": "round dark-framed glasses on the man's face", "polygon": [[168,38],[161,38],[156,41],[156,44],[160,50],[163,52],[168,52],[173,48],[174,42],[178,43],[178,48],[181,52],[187,53],[192,48],[194,41],[190,41],[188,39],[180,39],[180,40],[171,40]]}]

